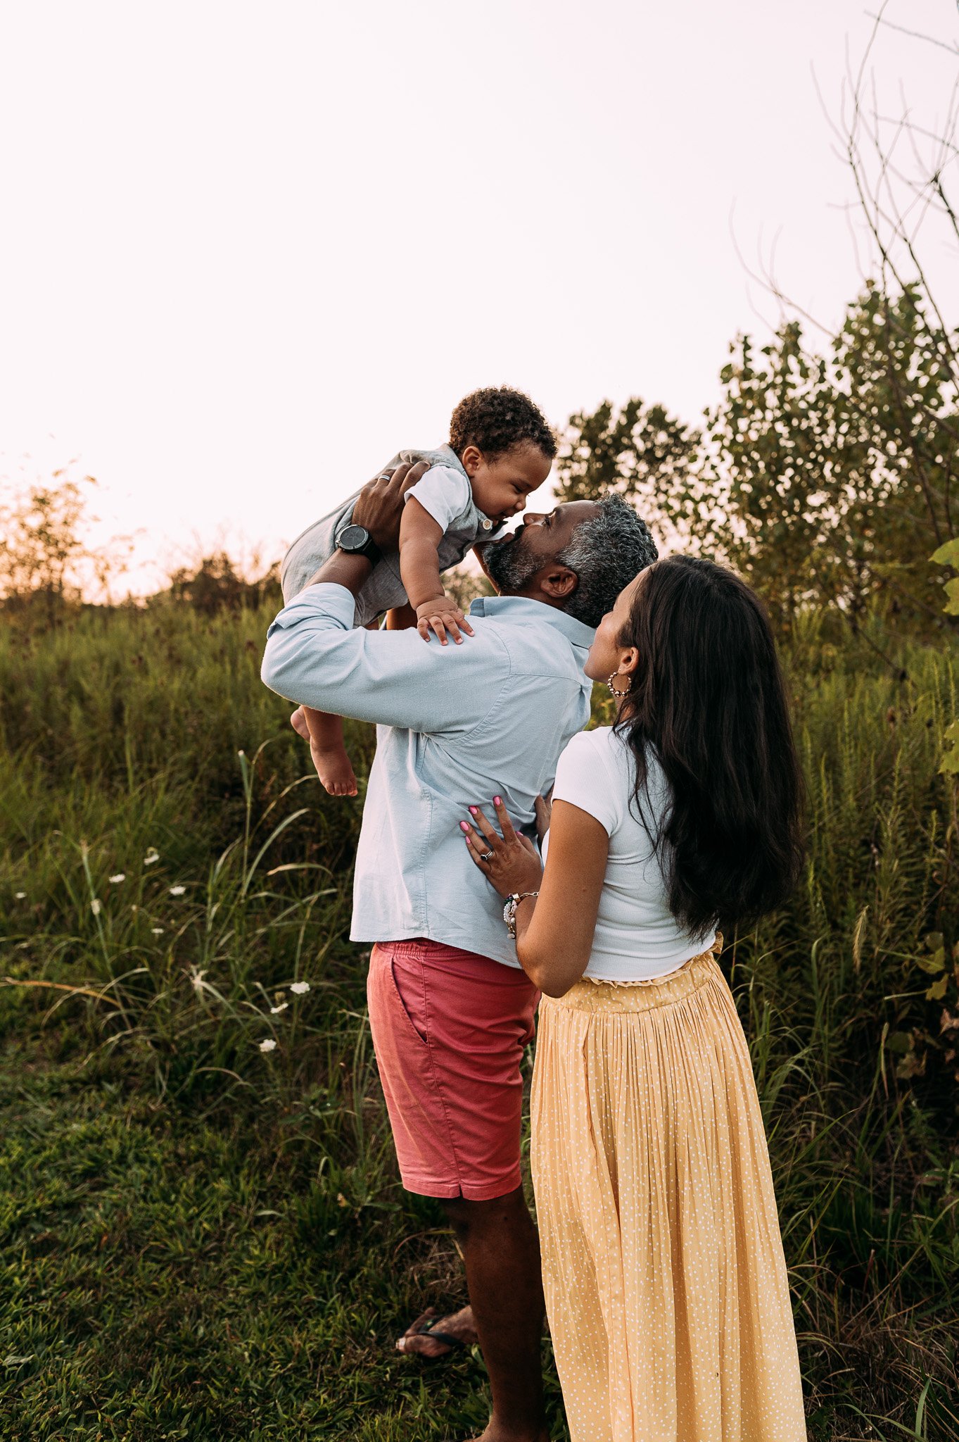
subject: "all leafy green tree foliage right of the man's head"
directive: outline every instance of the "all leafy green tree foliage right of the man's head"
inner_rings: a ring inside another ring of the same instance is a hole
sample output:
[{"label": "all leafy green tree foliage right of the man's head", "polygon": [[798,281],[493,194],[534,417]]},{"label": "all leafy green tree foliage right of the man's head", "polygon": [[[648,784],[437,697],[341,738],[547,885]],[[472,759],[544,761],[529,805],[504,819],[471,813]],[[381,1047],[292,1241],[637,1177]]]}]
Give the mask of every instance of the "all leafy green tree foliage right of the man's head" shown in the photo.
[{"label": "all leafy green tree foliage right of the man's head", "polygon": [[824,604],[855,630],[877,603],[935,633],[927,557],[955,532],[959,470],[947,353],[917,287],[868,284],[825,355],[795,320],[766,346],[740,336],[703,431],[636,398],[570,417],[557,495],[631,499],[668,545],[729,561],[783,634]]}]

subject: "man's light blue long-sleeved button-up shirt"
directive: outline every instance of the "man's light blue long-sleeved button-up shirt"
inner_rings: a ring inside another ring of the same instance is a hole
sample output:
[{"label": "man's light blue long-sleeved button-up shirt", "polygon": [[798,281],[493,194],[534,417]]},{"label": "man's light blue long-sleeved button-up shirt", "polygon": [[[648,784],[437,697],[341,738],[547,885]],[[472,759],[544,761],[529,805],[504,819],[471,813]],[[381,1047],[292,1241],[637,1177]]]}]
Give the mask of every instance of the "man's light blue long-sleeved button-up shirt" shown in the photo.
[{"label": "man's light blue long-sleeved button-up shirt", "polygon": [[[266,633],[264,682],[377,724],[353,887],[354,942],[425,936],[517,966],[503,901],[459,822],[503,796],[528,826],[566,743],[586,725],[593,629],[543,601],[481,597],[462,646],[416,630],[353,630],[353,597],[310,585]],[[348,805],[343,802],[341,805]]]}]

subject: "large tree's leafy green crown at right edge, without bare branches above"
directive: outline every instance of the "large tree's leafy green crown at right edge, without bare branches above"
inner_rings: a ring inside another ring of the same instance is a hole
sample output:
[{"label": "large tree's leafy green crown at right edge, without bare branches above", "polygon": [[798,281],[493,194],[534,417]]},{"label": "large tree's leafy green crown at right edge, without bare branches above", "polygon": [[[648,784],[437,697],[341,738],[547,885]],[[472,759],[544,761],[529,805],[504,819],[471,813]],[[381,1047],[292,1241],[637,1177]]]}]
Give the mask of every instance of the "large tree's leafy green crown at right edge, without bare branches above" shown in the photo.
[{"label": "large tree's leafy green crown at right edge, without bare branches above", "polygon": [[789,627],[828,604],[857,627],[877,601],[940,626],[930,551],[950,535],[956,395],[916,287],[868,283],[825,355],[799,322],[744,336],[707,420],[720,515],[706,538]]}]

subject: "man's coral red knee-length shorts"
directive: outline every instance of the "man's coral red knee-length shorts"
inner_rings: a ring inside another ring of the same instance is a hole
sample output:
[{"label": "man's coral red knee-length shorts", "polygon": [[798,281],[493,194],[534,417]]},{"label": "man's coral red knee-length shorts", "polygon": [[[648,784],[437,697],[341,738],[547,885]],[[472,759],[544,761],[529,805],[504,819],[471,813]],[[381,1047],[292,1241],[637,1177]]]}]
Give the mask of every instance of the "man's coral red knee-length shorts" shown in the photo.
[{"label": "man's coral red knee-length shorts", "polygon": [[488,956],[420,937],[373,947],[367,996],[406,1190],[468,1201],[515,1191],[536,986]]}]

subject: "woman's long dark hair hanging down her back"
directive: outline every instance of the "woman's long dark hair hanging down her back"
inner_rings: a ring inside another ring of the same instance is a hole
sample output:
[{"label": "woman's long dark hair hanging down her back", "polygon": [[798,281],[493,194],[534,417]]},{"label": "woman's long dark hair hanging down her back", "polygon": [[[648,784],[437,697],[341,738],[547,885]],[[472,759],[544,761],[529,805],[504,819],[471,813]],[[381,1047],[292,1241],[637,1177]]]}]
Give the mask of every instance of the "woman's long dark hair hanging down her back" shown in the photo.
[{"label": "woman's long dark hair hanging down her back", "polygon": [[802,776],[769,620],[737,575],[668,557],[644,572],[621,645],[639,652],[616,722],[649,829],[648,754],[672,802],[651,841],[694,936],[778,907],[802,870]]}]

